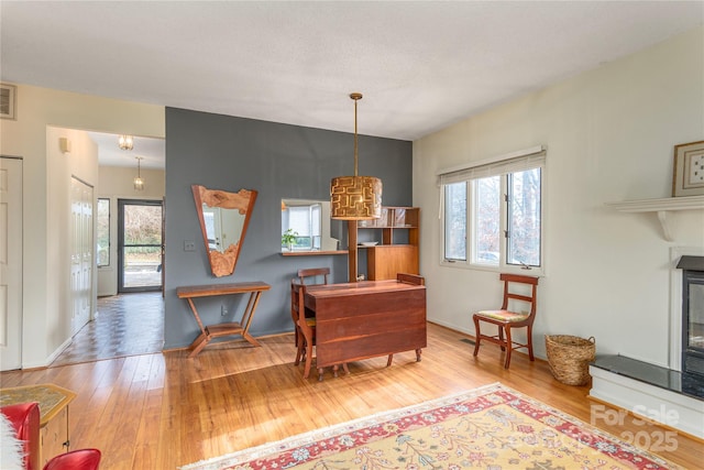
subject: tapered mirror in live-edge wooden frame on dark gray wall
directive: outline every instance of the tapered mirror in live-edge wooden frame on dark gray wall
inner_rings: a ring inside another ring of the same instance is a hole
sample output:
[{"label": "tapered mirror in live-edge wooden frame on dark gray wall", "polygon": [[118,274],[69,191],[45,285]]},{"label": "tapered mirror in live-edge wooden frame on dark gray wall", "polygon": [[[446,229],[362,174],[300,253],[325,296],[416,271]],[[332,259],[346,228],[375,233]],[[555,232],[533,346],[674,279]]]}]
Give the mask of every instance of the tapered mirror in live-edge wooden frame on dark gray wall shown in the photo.
[{"label": "tapered mirror in live-edge wooden frame on dark gray wall", "polygon": [[217,277],[228,276],[238,263],[257,193],[228,193],[200,185],[193,185],[191,189],[210,270]]}]

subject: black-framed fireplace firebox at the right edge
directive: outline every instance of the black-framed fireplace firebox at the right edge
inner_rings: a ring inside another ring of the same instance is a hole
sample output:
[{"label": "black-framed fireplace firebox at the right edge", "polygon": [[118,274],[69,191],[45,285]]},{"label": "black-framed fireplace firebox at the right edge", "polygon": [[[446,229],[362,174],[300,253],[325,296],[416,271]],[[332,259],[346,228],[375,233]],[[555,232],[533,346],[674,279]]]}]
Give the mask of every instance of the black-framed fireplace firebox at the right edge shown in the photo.
[{"label": "black-framed fireplace firebox at the right edge", "polygon": [[704,256],[683,255],[682,372],[704,376]]}]

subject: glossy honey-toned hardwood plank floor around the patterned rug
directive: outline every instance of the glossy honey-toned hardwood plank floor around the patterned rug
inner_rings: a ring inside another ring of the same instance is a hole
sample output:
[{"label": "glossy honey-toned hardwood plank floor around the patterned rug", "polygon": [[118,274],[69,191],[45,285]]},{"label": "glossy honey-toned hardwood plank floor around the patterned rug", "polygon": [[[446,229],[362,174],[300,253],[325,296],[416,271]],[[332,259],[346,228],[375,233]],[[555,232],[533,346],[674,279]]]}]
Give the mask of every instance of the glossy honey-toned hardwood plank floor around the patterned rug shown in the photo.
[{"label": "glossy honey-toned hardwood plank floor around the patterned rug", "polygon": [[[501,351],[482,346],[477,358],[466,336],[429,325],[422,361],[413,351],[350,364],[350,375],[323,382],[302,380],[294,365],[293,336],[261,339],[255,348],[239,340],[206,348],[194,359],[187,351],[131,356],[41,370],[0,374],[3,387],[55,383],[77,393],[70,404],[72,448],[97,447],[102,470],[175,469],[290,435],[425,400],[502,382],[590,423],[587,386],[556,381],[543,361],[516,353],[510,370]],[[597,427],[663,433],[651,425]],[[685,468],[700,468],[701,441],[676,436],[676,449],[657,452]]]}]

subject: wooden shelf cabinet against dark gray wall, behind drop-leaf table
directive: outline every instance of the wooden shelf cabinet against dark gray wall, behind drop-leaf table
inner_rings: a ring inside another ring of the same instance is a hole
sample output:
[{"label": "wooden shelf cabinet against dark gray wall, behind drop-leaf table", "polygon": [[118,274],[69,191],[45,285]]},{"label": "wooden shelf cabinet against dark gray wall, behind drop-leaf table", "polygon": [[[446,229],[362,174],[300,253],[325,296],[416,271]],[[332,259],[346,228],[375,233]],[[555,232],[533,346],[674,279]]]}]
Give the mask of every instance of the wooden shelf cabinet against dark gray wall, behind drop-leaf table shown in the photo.
[{"label": "wooden shelf cabinet against dark gray wall, behind drop-leaf table", "polygon": [[[372,239],[366,250],[366,274],[370,281],[395,280],[397,273],[420,274],[420,209],[418,207],[384,207],[376,220],[356,222],[355,241]],[[367,233],[362,233],[367,232]]]}]

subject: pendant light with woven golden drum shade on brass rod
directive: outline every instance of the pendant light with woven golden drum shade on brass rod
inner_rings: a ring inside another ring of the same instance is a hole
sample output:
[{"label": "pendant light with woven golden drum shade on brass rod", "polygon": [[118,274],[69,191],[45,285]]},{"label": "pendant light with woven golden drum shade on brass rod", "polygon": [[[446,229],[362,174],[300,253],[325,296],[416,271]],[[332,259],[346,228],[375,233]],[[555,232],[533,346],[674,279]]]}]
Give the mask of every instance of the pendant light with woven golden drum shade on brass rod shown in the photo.
[{"label": "pendant light with woven golden drum shade on brass rod", "polygon": [[382,181],[374,176],[358,176],[356,102],[354,100],[354,176],[338,176],[330,182],[331,217],[339,220],[371,220],[382,217]]}]

